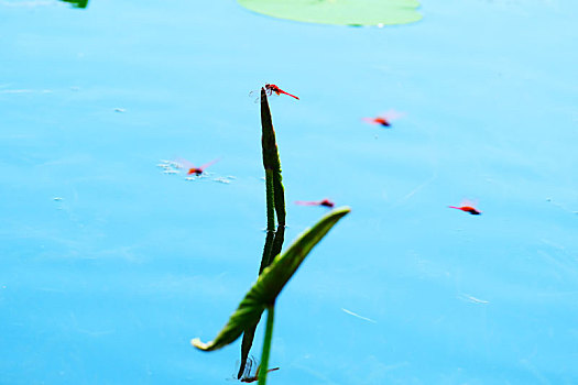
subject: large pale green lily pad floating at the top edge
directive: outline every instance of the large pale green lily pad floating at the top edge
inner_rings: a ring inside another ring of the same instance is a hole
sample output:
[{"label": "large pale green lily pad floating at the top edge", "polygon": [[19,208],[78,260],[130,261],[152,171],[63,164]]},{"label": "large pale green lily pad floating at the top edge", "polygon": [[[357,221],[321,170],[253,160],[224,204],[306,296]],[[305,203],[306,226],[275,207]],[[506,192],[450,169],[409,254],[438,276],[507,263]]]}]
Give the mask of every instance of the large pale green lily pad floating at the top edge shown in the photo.
[{"label": "large pale green lily pad floating at the top edge", "polygon": [[391,25],[418,21],[417,0],[238,0],[251,11],[308,23]]}]

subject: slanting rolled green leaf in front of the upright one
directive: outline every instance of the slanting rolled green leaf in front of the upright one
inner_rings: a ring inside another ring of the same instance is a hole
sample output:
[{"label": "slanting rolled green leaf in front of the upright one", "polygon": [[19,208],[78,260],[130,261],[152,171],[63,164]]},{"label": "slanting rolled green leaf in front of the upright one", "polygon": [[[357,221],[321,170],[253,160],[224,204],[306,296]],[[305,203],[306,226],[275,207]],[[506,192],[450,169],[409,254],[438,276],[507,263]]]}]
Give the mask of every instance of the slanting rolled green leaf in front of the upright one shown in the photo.
[{"label": "slanting rolled green leaf in front of the upright one", "polygon": [[204,343],[195,338],[190,340],[193,346],[203,351],[218,350],[232,343],[248,328],[255,326],[263,310],[275,302],[312,249],[350,211],[348,207],[335,209],[301,234],[285,253],[263,271],[215,340]]}]

